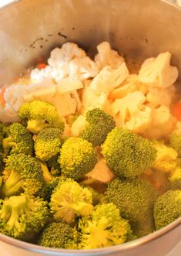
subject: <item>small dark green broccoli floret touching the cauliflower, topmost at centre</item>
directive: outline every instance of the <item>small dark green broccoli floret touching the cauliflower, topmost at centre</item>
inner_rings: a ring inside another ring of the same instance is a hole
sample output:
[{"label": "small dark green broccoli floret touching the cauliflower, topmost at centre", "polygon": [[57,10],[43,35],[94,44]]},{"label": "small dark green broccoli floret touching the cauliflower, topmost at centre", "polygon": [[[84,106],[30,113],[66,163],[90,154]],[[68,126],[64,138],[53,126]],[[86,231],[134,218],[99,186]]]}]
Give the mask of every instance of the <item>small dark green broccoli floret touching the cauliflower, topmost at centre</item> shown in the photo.
[{"label": "small dark green broccoli floret touching the cauliflower, topmost at centre", "polygon": [[86,113],[86,121],[88,125],[80,133],[80,136],[91,142],[93,146],[101,145],[105,142],[109,132],[116,126],[112,116],[100,108],[89,110]]}]

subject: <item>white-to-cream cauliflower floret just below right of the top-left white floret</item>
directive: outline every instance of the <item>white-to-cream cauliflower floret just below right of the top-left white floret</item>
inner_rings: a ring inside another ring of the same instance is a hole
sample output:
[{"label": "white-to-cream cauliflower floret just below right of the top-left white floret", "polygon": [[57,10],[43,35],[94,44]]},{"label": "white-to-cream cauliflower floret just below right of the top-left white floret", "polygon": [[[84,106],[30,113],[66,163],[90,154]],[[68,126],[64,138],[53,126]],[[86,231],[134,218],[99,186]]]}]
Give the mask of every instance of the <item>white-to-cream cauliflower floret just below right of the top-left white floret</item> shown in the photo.
[{"label": "white-to-cream cauliflower floret just below right of the top-left white floret", "polygon": [[72,60],[69,63],[69,77],[72,77],[72,79],[85,80],[89,77],[96,77],[97,74],[96,63],[88,56]]}]

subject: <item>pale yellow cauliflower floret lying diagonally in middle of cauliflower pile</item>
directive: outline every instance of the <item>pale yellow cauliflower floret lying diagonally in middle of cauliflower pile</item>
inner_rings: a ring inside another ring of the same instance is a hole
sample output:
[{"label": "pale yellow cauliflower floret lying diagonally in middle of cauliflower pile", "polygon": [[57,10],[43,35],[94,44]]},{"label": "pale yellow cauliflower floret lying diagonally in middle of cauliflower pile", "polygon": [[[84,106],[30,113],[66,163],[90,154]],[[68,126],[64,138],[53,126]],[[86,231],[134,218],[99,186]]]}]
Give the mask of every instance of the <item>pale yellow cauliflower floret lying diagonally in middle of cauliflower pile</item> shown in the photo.
[{"label": "pale yellow cauliflower floret lying diagonally in middle of cauliflower pile", "polygon": [[129,70],[126,67],[126,63],[122,63],[117,69],[111,67],[103,67],[99,74],[92,80],[89,88],[95,92],[95,94],[109,94],[110,91],[118,87],[129,76]]}]

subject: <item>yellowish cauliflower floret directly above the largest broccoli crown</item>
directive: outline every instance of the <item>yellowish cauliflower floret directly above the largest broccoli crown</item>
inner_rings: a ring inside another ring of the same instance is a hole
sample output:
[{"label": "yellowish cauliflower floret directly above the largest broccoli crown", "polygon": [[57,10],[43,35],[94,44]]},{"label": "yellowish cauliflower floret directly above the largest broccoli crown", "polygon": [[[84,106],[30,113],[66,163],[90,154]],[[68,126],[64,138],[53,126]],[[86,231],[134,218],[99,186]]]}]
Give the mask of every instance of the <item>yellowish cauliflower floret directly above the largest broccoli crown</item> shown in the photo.
[{"label": "yellowish cauliflower floret directly above the largest broccoli crown", "polygon": [[133,132],[145,131],[152,121],[152,109],[144,105],[146,97],[142,91],[135,91],[112,103],[112,115],[116,126]]}]

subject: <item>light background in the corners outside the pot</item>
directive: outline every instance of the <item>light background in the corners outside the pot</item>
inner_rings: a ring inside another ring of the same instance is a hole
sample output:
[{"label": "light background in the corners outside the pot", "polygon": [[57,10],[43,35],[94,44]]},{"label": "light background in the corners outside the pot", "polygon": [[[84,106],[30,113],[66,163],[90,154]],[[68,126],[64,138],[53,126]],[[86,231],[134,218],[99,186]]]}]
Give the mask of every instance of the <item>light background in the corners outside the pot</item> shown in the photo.
[{"label": "light background in the corners outside the pot", "polygon": [[[10,2],[12,2],[12,0],[0,0],[0,7],[2,7],[3,5],[6,5]],[[169,2],[176,2],[178,5],[181,6],[181,0],[177,0],[177,1],[170,0]],[[8,251],[5,251],[5,249],[2,247],[2,245],[0,246],[0,251],[1,251],[1,255],[3,255],[3,256],[13,256],[12,254],[9,254]],[[177,245],[177,247],[174,248],[173,251],[171,251],[166,256],[180,256],[180,255],[181,255],[181,243],[179,243],[179,245]],[[19,256],[25,256],[25,255],[19,255]]]}]

